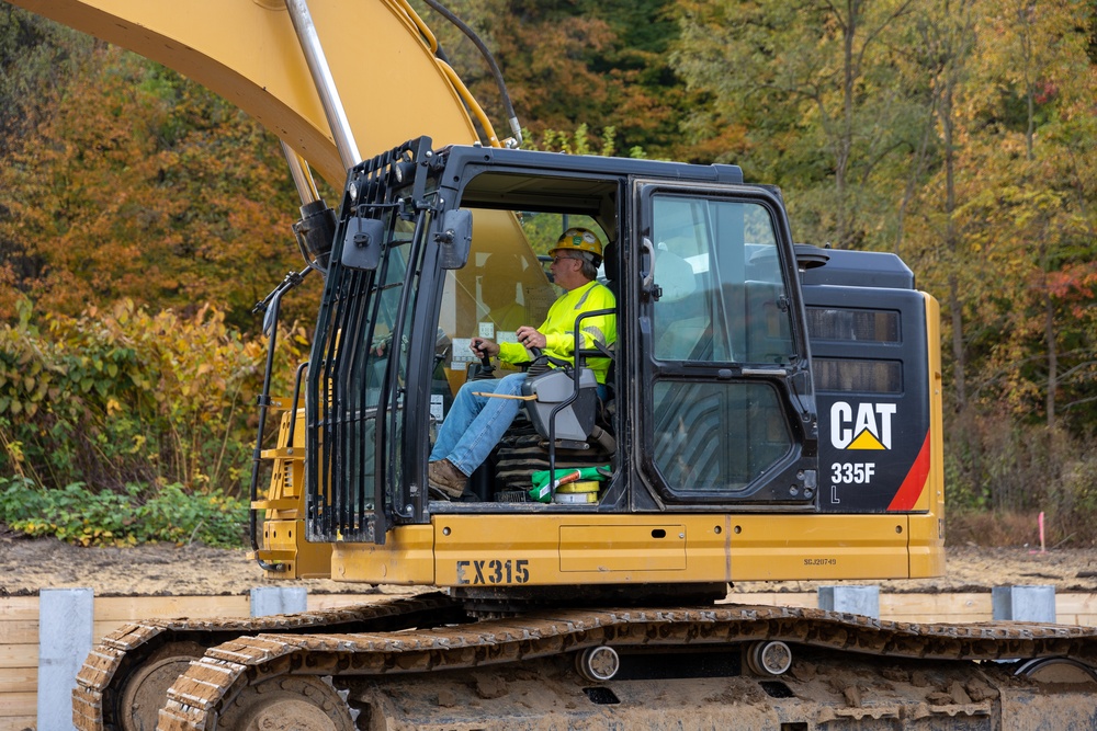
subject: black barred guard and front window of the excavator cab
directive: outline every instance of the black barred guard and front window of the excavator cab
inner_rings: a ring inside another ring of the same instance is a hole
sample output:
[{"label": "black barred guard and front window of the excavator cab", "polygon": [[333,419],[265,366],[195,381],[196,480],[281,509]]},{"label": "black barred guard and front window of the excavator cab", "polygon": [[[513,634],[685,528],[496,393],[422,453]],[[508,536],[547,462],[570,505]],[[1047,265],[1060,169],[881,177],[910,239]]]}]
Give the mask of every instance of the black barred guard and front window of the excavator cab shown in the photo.
[{"label": "black barred guard and front window of the excavator cab", "polygon": [[417,307],[438,288],[433,183],[415,164],[429,151],[412,140],[348,180],[305,391],[310,541],[384,544],[395,524],[422,519],[407,435],[427,431],[436,345],[433,313]]}]

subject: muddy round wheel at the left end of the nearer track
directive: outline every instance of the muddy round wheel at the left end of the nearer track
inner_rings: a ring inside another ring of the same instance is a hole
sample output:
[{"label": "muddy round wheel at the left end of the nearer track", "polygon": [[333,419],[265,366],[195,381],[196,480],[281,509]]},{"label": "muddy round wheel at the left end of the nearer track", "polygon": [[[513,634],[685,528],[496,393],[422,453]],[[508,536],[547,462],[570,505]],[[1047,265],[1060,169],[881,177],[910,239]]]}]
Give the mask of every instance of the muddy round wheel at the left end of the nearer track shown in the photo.
[{"label": "muddy round wheel at the left end of the nearer track", "polygon": [[244,688],[222,711],[233,731],[354,731],[346,692],[313,675],[279,675]]}]

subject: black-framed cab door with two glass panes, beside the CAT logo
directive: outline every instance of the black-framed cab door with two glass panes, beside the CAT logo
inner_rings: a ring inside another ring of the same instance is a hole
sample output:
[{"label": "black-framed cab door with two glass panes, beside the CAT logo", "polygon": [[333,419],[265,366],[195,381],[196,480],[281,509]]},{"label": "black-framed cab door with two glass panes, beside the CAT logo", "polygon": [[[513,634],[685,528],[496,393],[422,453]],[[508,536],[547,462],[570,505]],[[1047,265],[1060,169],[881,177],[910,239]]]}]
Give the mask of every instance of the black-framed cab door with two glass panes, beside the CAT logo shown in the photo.
[{"label": "black-framed cab door with two glass panes, beside the CAT logo", "polygon": [[816,418],[776,194],[637,181],[640,469],[661,503],[813,510]]}]

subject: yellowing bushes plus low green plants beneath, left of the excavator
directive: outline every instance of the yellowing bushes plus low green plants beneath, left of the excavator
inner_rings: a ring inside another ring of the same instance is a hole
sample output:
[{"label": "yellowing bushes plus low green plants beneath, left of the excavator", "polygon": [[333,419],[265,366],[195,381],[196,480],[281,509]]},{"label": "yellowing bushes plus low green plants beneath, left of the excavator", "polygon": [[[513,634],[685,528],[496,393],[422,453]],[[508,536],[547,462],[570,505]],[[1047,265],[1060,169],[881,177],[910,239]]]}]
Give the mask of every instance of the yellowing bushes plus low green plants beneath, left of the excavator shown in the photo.
[{"label": "yellowing bushes plus low green plants beneath, left of the excavator", "polygon": [[[275,395],[305,342],[280,333]],[[86,546],[241,545],[264,351],[210,306],[36,320],[20,301],[0,325],[0,521]]]}]

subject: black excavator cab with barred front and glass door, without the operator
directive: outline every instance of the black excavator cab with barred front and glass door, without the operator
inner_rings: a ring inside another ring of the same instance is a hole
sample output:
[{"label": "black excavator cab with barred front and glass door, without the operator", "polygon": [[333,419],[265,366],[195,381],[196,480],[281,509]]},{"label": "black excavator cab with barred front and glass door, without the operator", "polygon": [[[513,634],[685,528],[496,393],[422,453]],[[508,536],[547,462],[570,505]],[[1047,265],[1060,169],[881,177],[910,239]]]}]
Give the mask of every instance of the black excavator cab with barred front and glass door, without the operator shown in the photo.
[{"label": "black excavator cab with barred front and glass door, without the operator", "polygon": [[[432,500],[427,455],[476,365],[472,336],[543,321],[557,290],[538,255],[577,225],[608,242],[612,352],[579,349],[580,367],[530,378],[528,418],[474,478],[478,500]],[[732,165],[420,138],[353,168],[307,375],[308,539],[383,545],[446,513],[530,515],[545,468],[603,478],[597,500],[547,513],[815,511],[796,276],[779,196]]]}]

